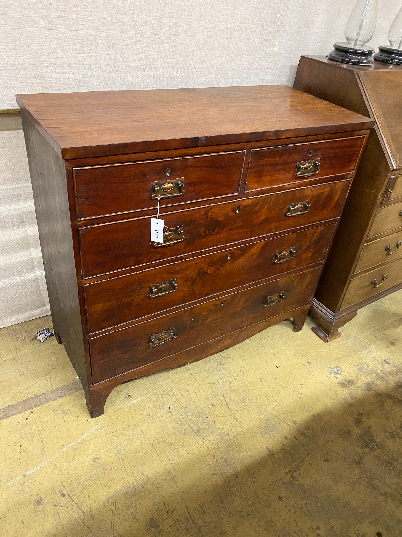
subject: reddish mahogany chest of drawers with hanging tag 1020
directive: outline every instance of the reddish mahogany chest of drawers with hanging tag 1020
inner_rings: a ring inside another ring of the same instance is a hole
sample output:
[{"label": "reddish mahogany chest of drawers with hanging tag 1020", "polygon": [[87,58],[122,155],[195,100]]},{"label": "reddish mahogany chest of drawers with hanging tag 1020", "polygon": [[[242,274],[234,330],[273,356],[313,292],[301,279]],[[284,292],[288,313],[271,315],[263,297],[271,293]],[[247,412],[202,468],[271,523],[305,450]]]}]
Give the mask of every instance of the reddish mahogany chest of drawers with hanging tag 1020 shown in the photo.
[{"label": "reddish mahogany chest of drawers with hanging tag 1020", "polygon": [[373,120],[288,86],[17,102],[55,335],[92,417],[124,381],[302,328]]}]

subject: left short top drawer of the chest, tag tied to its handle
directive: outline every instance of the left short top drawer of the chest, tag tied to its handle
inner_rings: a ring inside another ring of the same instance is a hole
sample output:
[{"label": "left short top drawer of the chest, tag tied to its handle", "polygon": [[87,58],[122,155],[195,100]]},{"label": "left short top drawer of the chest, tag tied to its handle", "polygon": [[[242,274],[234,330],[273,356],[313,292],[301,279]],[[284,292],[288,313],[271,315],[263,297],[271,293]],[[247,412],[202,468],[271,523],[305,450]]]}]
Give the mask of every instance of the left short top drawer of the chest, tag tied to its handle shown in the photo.
[{"label": "left short top drawer of the chest, tag tied to its handle", "polygon": [[239,191],[244,151],[73,169],[78,220]]}]

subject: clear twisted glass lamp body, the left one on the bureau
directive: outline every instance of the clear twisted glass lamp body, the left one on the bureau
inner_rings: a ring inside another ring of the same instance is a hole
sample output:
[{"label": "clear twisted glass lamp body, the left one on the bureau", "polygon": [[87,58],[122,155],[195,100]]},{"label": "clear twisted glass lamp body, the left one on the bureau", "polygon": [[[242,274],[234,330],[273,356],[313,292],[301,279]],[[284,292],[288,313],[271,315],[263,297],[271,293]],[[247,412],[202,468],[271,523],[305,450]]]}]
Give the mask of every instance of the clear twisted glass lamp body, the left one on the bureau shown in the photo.
[{"label": "clear twisted glass lamp body, the left one on the bureau", "polygon": [[378,0],[358,0],[349,17],[345,38],[352,47],[363,48],[374,35],[377,25]]}]

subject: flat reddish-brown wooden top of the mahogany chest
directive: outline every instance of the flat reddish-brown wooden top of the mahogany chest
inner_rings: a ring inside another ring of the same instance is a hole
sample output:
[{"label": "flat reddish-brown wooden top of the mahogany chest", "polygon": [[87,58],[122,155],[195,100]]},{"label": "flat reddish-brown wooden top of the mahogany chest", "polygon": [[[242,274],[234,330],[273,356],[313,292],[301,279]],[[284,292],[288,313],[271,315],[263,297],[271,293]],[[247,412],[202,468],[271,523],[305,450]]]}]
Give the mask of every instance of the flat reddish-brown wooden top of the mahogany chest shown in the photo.
[{"label": "flat reddish-brown wooden top of the mahogany chest", "polygon": [[374,122],[285,85],[17,95],[63,159],[351,132]]}]

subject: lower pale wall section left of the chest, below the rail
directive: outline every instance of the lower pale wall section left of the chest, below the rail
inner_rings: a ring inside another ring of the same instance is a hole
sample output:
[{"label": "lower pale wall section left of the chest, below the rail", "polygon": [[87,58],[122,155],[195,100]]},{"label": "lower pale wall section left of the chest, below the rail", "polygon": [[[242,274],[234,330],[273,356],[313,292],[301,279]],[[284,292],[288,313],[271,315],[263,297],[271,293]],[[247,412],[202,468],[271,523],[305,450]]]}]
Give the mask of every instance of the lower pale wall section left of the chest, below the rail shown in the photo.
[{"label": "lower pale wall section left of the chest, below the rail", "polygon": [[0,132],[0,326],[48,313],[23,132]]}]

